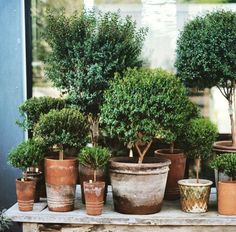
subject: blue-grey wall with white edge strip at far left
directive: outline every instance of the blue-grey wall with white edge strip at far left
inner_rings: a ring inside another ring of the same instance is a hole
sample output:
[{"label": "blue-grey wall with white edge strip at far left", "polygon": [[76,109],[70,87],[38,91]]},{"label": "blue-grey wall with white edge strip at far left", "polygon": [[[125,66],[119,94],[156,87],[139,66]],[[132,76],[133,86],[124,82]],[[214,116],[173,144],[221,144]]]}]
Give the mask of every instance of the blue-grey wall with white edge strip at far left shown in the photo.
[{"label": "blue-grey wall with white edge strip at far left", "polygon": [[6,157],[25,137],[15,124],[18,105],[26,98],[25,83],[24,0],[0,0],[0,209],[16,202],[20,171],[10,167]]}]

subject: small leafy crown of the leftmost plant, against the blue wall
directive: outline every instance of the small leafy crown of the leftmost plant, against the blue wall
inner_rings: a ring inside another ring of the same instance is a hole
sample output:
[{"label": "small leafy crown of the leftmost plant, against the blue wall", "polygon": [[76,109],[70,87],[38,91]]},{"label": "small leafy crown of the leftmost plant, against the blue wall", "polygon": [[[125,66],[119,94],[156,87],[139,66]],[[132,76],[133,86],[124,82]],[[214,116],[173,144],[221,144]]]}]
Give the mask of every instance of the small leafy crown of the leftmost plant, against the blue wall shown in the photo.
[{"label": "small leafy crown of the leftmost plant, against the blue wall", "polygon": [[43,144],[39,140],[29,139],[12,149],[7,159],[13,167],[26,171],[29,167],[37,167],[43,158]]}]

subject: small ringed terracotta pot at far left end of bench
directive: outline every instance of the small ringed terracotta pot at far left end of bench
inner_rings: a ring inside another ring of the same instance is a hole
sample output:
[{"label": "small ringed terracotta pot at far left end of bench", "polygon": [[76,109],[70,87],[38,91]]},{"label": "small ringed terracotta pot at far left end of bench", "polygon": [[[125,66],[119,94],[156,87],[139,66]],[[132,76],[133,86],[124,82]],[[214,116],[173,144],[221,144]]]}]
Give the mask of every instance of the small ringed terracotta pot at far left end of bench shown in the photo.
[{"label": "small ringed terracotta pot at far left end of bench", "polygon": [[34,180],[16,179],[16,196],[20,211],[32,211],[34,205],[36,182]]}]

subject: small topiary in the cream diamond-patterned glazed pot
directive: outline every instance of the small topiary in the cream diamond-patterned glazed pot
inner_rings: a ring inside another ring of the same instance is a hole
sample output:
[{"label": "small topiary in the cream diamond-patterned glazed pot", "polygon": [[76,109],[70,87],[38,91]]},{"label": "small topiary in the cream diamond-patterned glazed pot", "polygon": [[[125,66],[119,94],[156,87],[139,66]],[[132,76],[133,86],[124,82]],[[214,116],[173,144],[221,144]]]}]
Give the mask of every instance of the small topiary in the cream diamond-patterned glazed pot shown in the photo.
[{"label": "small topiary in the cream diamond-patterned glazed pot", "polygon": [[188,157],[196,163],[196,179],[179,180],[181,209],[185,212],[206,212],[212,181],[199,178],[200,162],[212,155],[212,145],[217,136],[216,126],[204,118],[192,119],[186,128],[185,141]]}]

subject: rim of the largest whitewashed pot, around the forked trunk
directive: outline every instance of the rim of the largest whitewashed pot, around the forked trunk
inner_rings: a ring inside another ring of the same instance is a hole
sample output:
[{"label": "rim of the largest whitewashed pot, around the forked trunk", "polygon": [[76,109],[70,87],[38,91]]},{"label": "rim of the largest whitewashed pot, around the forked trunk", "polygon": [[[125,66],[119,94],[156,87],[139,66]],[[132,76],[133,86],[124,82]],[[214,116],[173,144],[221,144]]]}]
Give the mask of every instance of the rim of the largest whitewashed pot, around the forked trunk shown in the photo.
[{"label": "rim of the largest whitewashed pot, around the forked trunk", "polygon": [[[142,168],[152,168],[152,167],[164,167],[169,166],[171,164],[171,161],[169,159],[165,159],[162,157],[145,157],[144,161],[150,161],[147,163],[138,163],[138,158],[135,157],[113,157],[110,159],[110,166],[115,167],[142,167]],[[156,162],[153,162],[153,161]],[[135,162],[129,162],[129,161],[135,161]]]}]

